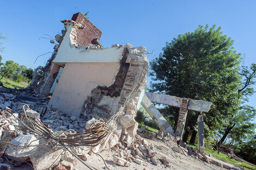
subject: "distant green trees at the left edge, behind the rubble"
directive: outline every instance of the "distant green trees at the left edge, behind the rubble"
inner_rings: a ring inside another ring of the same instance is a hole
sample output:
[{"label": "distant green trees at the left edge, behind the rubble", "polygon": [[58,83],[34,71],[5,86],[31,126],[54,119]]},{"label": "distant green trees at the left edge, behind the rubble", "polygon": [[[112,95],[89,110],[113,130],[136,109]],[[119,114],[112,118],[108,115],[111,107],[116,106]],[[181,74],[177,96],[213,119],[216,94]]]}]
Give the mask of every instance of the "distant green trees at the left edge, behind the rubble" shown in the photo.
[{"label": "distant green trees at the left edge, behind the rubble", "polygon": [[33,77],[33,69],[27,68],[26,66],[19,65],[14,61],[1,62],[2,56],[0,55],[0,80],[3,77],[13,79],[14,81],[20,83],[24,81],[30,83]]}]

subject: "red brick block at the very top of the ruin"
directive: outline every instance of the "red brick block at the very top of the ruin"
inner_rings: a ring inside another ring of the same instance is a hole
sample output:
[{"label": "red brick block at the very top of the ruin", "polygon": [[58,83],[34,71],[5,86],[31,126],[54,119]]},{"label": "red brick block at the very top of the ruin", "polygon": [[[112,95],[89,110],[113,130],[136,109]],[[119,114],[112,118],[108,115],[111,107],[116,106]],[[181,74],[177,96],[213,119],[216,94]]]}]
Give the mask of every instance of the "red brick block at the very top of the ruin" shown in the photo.
[{"label": "red brick block at the very top of the ruin", "polygon": [[77,45],[92,44],[93,39],[100,40],[102,34],[100,29],[94,26],[94,24],[90,22],[81,12],[74,14],[71,20],[86,26],[86,28],[79,29],[77,32]]}]

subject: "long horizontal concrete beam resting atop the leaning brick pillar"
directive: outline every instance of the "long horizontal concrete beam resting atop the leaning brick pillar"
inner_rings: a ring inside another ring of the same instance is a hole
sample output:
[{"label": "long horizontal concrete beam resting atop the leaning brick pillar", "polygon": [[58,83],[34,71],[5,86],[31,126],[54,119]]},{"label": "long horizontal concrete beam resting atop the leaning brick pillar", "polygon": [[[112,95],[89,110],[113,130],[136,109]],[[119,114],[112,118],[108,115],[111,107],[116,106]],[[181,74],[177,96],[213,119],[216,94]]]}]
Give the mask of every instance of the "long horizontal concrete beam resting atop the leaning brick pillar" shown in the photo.
[{"label": "long horizontal concrete beam resting atop the leaning brick pillar", "polygon": [[[176,96],[162,95],[158,93],[145,92],[145,95],[150,99],[151,102],[166,104],[180,108],[182,98]],[[188,110],[208,112],[211,108],[211,102],[204,102],[203,100],[190,99]]]}]

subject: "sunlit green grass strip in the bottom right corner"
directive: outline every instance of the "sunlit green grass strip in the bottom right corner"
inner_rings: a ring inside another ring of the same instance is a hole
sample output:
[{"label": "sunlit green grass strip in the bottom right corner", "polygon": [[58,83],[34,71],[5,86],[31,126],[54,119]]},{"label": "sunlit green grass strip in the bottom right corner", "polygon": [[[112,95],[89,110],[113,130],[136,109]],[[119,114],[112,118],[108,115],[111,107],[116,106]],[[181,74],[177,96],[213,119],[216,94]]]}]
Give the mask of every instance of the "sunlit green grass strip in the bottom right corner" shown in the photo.
[{"label": "sunlit green grass strip in the bottom right corner", "polygon": [[[198,145],[193,145],[193,144],[189,144],[189,145],[192,146],[193,148],[194,147],[198,148]],[[225,155],[221,152],[220,152],[220,154],[218,154],[218,152],[215,151],[214,149],[212,149],[212,147],[205,147],[204,152],[208,153],[208,154],[212,154],[212,156],[214,156],[218,160],[228,162],[228,163],[231,163],[233,165],[239,165],[239,166],[243,166],[243,167],[246,167],[246,168],[249,168],[249,169],[256,170],[256,168],[254,166],[251,166],[251,165],[249,165],[245,162],[240,162],[240,161],[236,161],[234,159],[230,159],[228,155]]]}]

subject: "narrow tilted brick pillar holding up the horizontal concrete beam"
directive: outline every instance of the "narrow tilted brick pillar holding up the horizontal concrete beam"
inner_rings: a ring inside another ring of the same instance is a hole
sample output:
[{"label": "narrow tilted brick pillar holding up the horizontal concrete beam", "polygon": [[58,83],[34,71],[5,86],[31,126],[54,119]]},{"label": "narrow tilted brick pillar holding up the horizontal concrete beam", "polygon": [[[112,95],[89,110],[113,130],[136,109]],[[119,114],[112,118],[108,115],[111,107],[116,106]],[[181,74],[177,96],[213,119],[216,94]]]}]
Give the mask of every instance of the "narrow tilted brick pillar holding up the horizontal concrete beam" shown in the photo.
[{"label": "narrow tilted brick pillar holding up the horizontal concrete beam", "polygon": [[178,118],[178,124],[175,133],[182,137],[182,133],[185,127],[186,118],[187,118],[187,106],[190,99],[183,98],[180,106],[180,113]]}]

